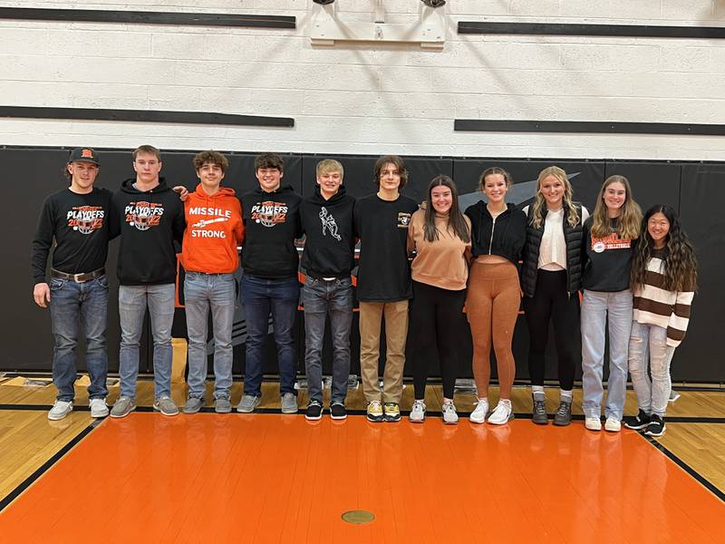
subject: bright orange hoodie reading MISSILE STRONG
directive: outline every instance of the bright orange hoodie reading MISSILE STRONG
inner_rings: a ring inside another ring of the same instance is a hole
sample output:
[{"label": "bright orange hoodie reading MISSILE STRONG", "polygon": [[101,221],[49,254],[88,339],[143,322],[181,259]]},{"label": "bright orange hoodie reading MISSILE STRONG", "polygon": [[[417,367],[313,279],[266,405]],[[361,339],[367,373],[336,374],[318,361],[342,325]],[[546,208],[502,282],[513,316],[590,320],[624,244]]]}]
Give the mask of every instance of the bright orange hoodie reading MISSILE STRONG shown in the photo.
[{"label": "bright orange hoodie reading MISSILE STRONG", "polygon": [[242,209],[234,189],[208,195],[201,184],[184,202],[187,229],[181,264],[189,272],[227,274],[239,265],[237,245],[244,240]]}]

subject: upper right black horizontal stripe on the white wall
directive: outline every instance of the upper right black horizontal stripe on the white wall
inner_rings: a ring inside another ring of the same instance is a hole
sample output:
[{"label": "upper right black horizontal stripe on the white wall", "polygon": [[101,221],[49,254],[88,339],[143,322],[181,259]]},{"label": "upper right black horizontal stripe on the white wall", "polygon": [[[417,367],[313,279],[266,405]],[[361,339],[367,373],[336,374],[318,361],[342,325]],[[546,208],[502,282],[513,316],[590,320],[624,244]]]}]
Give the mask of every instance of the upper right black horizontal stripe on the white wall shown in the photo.
[{"label": "upper right black horizontal stripe on the white wall", "polygon": [[459,21],[459,34],[534,34],[631,38],[725,38],[725,26],[646,24],[488,23]]}]

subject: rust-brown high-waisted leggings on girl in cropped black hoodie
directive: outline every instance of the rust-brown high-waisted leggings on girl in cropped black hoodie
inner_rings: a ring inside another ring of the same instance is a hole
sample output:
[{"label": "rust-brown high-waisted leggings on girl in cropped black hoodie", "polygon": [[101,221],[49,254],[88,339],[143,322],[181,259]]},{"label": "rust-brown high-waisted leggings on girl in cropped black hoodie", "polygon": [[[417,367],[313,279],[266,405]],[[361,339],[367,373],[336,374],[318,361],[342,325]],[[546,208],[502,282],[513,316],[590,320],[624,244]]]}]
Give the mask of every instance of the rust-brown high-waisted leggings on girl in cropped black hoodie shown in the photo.
[{"label": "rust-brown high-waisted leggings on girl in cropped black hoodie", "polygon": [[480,398],[488,397],[491,337],[496,353],[500,398],[511,398],[511,386],[516,375],[511,340],[520,303],[518,272],[513,264],[473,263],[466,297],[466,315],[473,337],[473,377]]}]

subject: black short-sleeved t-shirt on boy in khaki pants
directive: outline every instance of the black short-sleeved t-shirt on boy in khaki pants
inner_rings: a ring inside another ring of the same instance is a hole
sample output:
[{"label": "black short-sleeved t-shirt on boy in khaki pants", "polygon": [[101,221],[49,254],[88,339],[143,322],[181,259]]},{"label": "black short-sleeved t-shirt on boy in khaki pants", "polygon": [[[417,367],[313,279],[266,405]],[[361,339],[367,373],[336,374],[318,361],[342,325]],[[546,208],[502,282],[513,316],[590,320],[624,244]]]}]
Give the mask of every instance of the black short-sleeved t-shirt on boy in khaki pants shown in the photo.
[{"label": "black short-sleeved t-shirt on boy in khaki pants", "polygon": [[377,195],[355,204],[355,234],[360,238],[357,298],[362,302],[396,302],[412,298],[408,261],[408,227],[418,210],[415,200]]}]

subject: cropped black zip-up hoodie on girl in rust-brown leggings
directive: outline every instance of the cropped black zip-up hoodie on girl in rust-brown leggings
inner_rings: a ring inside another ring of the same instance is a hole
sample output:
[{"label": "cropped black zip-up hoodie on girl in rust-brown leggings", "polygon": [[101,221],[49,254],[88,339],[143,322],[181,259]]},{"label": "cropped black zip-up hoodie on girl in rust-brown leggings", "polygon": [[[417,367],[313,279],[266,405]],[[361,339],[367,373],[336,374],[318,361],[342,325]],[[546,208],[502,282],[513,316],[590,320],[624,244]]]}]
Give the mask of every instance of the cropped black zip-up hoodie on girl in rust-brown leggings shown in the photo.
[{"label": "cropped black zip-up hoodie on girl in rust-brown leggings", "polygon": [[496,219],[488,212],[486,202],[480,200],[464,212],[471,225],[471,255],[498,255],[518,266],[521,249],[527,239],[527,216],[514,204]]}]

